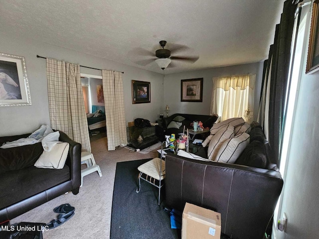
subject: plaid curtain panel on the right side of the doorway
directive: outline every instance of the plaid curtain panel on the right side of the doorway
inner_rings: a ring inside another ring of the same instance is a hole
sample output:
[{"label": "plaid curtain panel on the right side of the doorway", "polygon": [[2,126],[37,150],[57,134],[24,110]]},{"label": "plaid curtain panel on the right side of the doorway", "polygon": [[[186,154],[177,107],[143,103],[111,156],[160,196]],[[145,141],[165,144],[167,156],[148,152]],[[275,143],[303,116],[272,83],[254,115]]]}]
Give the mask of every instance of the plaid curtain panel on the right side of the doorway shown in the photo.
[{"label": "plaid curtain panel on the right side of the doorway", "polygon": [[108,150],[127,144],[122,73],[102,70]]}]

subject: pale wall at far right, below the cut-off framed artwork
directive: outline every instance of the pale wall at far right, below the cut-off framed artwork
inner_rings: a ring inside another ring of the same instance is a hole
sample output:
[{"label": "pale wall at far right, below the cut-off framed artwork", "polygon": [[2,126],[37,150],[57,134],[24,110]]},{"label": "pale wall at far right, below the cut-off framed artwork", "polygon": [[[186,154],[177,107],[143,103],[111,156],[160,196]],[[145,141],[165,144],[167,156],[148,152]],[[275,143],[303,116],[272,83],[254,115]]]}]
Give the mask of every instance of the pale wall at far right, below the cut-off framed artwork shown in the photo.
[{"label": "pale wall at far right, below the cut-off framed artwork", "polygon": [[288,225],[286,233],[274,232],[277,239],[319,237],[319,72],[305,74],[309,32],[310,24],[279,209],[280,218],[286,213]]}]

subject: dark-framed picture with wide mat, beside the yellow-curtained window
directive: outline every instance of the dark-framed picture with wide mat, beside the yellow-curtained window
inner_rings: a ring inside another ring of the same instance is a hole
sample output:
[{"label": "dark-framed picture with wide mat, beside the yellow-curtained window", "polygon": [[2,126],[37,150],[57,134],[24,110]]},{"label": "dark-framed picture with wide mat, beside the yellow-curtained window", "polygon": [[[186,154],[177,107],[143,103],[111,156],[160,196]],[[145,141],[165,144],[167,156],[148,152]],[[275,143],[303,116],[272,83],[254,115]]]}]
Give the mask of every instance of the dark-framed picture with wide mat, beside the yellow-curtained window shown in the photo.
[{"label": "dark-framed picture with wide mat, beside the yellow-curtained window", "polygon": [[180,101],[203,102],[203,78],[181,80]]}]

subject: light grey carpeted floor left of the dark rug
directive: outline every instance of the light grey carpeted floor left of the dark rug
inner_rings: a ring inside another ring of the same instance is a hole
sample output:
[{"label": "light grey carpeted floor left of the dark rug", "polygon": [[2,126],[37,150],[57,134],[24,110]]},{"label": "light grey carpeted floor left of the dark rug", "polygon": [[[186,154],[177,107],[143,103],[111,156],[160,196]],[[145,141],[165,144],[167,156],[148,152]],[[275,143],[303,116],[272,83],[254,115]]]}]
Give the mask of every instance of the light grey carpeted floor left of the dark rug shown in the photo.
[{"label": "light grey carpeted floor left of the dark rug", "polygon": [[[43,239],[108,239],[110,238],[111,209],[115,169],[117,162],[157,157],[156,150],[141,154],[120,147],[107,150],[107,138],[99,133],[91,136],[91,147],[95,161],[103,176],[97,172],[83,178],[83,187],[77,195],[61,195],[31,211],[11,220],[19,222],[49,223],[57,214],[52,210],[64,203],[75,207],[75,215],[63,225],[43,233]],[[85,167],[82,165],[82,167]]]}]

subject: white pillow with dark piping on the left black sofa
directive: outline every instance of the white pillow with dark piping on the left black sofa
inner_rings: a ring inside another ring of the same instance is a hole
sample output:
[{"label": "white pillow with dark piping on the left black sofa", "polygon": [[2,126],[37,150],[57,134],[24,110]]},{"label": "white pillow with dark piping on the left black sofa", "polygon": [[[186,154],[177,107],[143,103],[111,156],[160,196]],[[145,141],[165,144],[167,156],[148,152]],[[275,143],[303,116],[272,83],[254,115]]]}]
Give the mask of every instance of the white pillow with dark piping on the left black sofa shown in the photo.
[{"label": "white pillow with dark piping on the left black sofa", "polygon": [[62,169],[69,152],[69,143],[58,142],[50,151],[43,151],[35,162],[37,168]]}]

